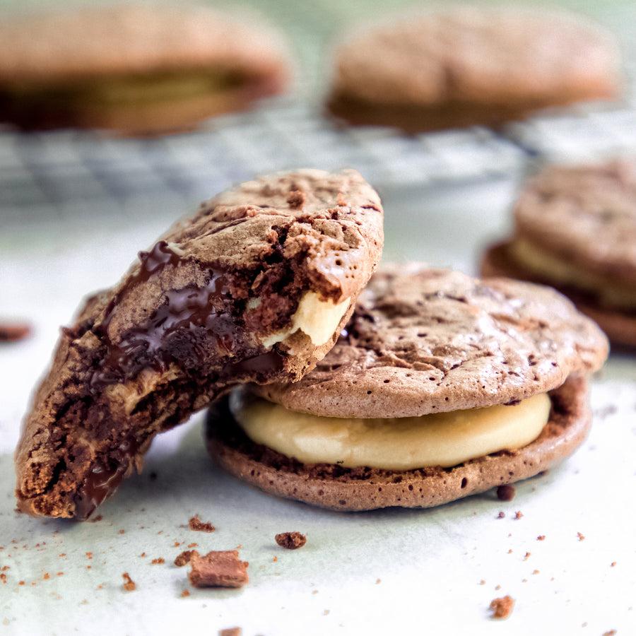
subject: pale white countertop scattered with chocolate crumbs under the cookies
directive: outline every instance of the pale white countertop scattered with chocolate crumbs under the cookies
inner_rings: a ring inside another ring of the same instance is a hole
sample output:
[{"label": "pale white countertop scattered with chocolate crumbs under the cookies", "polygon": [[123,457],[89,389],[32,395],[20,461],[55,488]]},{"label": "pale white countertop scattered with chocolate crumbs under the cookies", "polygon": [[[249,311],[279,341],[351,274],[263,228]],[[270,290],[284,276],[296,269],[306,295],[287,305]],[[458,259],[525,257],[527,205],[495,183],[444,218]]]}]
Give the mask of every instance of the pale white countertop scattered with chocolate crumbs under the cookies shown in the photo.
[{"label": "pale white countertop scattered with chocolate crumbs under the cookies", "polygon": [[[384,189],[386,259],[472,271],[478,247],[505,232],[513,192],[505,181]],[[626,356],[594,381],[586,444],[520,484],[512,502],[488,493],[434,510],[341,514],[278,500],[208,461],[199,414],[155,440],[144,472],[102,506],[100,522],[14,512],[13,447],[58,325],[182,212],[169,199],[108,214],[87,206],[74,217],[25,218],[0,236],[0,313],[35,327],[28,340],[0,348],[0,567],[10,568],[0,584],[0,634],[213,635],[237,625],[246,636],[636,632],[636,362]],[[513,519],[517,510],[522,519]],[[216,532],[184,527],[194,513]],[[307,534],[307,545],[278,548],[273,536],[293,530]],[[242,545],[247,587],[182,598],[187,568],[172,560],[191,542],[200,550]],[[151,565],[159,557],[165,565]],[[136,591],[122,591],[122,572]],[[491,620],[490,601],[505,594],[516,599],[512,616]]]}]

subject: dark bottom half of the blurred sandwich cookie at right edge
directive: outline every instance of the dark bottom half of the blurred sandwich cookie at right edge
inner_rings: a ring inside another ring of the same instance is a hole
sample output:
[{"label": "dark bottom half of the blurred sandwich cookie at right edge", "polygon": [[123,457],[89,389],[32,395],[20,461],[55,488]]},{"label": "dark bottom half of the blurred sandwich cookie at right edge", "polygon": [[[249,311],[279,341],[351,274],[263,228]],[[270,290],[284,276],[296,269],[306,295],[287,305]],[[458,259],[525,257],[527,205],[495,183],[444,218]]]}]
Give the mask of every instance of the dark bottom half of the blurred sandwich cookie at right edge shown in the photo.
[{"label": "dark bottom half of the blurred sandwich cookie at right edge", "polygon": [[636,347],[636,312],[603,307],[590,293],[572,287],[564,287],[536,276],[524,269],[510,254],[510,242],[493,245],[481,260],[481,276],[506,276],[521,281],[550,285],[566,295],[577,308],[599,324],[613,345]]}]

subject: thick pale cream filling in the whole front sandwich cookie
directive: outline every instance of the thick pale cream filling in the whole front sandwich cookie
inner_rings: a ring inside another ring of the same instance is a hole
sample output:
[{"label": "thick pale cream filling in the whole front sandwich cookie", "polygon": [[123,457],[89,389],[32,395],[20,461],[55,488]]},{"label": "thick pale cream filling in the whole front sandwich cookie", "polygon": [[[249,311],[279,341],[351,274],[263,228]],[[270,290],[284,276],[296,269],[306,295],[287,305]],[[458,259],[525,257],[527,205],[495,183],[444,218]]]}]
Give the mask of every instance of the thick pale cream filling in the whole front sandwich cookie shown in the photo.
[{"label": "thick pale cream filling in the whole front sandwich cookie", "polygon": [[550,417],[548,394],[514,406],[488,406],[411,418],[327,418],[290,411],[237,389],[230,411],[252,442],[304,464],[408,471],[457,466],[519,449],[540,435]]}]

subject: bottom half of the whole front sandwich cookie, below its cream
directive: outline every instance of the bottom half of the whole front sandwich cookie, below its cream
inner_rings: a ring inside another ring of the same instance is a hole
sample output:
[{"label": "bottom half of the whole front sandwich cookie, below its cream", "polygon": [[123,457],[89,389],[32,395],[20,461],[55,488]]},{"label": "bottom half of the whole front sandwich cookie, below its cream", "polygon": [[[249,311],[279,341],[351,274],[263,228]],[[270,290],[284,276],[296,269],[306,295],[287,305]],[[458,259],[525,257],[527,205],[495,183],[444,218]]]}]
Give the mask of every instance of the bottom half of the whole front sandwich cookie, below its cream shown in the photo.
[{"label": "bottom half of the whole front sandwich cookie, below its cream", "polygon": [[249,440],[233,420],[227,399],[208,413],[206,442],[223,469],[279,497],[343,511],[432,507],[532,477],[570,456],[591,424],[586,379],[570,377],[550,392],[550,399],[550,419],[534,442],[448,469],[389,471],[302,464]]}]

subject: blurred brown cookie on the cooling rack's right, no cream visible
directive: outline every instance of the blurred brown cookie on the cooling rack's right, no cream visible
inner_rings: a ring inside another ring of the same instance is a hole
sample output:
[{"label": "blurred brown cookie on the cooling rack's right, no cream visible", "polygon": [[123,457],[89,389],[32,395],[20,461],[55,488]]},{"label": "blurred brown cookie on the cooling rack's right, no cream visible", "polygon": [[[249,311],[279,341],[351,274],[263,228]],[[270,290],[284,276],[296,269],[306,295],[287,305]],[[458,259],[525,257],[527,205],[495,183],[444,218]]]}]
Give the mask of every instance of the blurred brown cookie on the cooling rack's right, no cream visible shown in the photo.
[{"label": "blurred brown cookie on the cooling rack's right, no cream visible", "polygon": [[426,131],[497,125],[619,92],[618,52],[565,12],[461,7],[347,37],[328,107],[353,124]]}]

